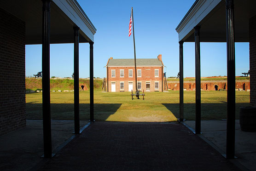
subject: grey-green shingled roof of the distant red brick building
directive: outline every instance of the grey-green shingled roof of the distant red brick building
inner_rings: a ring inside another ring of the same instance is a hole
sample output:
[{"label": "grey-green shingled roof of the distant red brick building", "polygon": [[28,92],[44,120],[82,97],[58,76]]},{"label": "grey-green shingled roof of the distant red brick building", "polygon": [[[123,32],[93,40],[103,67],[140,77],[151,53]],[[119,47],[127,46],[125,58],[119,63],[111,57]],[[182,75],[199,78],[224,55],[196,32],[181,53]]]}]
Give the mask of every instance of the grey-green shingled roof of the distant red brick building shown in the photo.
[{"label": "grey-green shingled roof of the distant red brick building", "polygon": [[[134,59],[110,59],[107,66],[134,66]],[[136,66],[163,66],[163,64],[158,59],[136,59]]]}]

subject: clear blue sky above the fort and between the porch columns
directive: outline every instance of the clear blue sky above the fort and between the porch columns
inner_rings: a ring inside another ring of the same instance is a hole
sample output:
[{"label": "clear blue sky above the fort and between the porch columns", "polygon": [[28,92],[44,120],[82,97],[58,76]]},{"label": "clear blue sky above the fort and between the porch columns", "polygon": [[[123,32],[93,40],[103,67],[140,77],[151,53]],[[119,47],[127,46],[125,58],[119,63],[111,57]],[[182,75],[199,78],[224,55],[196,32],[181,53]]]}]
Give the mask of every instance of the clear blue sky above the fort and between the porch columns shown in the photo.
[{"label": "clear blue sky above the fort and between the porch columns", "polygon": [[[167,77],[179,72],[175,28],[195,0],[77,0],[97,29],[94,35],[94,76],[106,77],[108,58],[134,58],[133,34],[128,37],[131,7],[137,58],[162,54]],[[201,76],[227,75],[226,43],[201,43]],[[80,78],[89,77],[89,44],[79,44]],[[70,77],[74,45],[50,46],[50,75]],[[236,75],[249,70],[249,43],[236,43]],[[26,46],[26,76],[41,71],[41,45]],[[194,43],[184,43],[184,77],[195,76]]]}]

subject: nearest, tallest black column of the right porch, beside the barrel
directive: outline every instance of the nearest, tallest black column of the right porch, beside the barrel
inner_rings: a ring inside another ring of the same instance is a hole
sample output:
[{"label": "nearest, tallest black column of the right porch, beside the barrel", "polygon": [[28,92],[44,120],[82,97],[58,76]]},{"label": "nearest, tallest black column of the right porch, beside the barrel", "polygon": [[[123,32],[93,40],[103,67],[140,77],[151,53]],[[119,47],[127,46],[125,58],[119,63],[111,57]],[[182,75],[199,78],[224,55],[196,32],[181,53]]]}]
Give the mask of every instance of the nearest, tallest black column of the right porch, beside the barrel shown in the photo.
[{"label": "nearest, tallest black column of the right porch, beside the barrel", "polygon": [[235,43],[234,3],[226,0],[227,31],[227,159],[235,157]]}]

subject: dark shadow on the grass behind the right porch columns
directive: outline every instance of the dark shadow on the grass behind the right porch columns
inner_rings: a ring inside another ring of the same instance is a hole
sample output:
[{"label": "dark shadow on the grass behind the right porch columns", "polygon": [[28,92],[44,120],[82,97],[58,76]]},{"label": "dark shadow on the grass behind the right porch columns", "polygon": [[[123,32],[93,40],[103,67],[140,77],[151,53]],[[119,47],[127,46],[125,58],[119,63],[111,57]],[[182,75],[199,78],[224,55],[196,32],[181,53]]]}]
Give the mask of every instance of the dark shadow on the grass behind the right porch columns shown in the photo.
[{"label": "dark shadow on the grass behind the right porch columns", "polygon": [[[179,103],[162,103],[176,118],[180,118]],[[239,107],[249,106],[250,103],[236,103],[236,120],[239,120]],[[184,103],[184,119],[195,120],[196,104]],[[227,119],[227,103],[201,103],[201,120]]]}]

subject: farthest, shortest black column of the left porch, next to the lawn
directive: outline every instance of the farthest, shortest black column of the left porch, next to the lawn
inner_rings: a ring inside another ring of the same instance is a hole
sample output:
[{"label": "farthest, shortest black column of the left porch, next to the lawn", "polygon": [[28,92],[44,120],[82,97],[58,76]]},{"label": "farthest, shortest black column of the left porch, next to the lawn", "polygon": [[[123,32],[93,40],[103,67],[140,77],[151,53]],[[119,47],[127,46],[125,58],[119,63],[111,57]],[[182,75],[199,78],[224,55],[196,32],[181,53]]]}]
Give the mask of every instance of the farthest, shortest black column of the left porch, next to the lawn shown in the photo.
[{"label": "farthest, shortest black column of the left porch, next to the lawn", "polygon": [[94,102],[93,102],[93,42],[90,42],[90,121],[94,121]]}]

